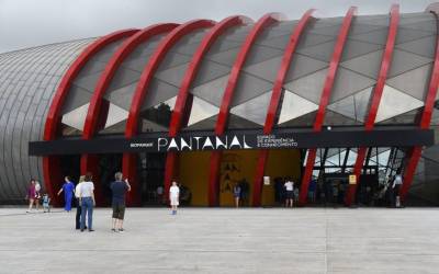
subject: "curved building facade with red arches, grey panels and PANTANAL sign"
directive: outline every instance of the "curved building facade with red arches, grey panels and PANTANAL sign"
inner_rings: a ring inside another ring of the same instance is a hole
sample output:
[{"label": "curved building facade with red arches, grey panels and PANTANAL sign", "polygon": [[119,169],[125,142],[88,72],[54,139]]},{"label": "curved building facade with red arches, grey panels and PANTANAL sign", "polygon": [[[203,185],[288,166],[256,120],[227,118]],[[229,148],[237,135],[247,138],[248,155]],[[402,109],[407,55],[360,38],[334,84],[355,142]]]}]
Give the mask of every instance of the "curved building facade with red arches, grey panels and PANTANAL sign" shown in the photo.
[{"label": "curved building facade with red arches, grey panels and PANTANAL sign", "polygon": [[248,205],[272,205],[284,178],[302,204],[314,180],[363,203],[397,173],[404,198],[438,204],[435,9],[313,14],[164,23],[1,54],[1,203],[22,203],[31,178],[54,195],[64,175],[90,171],[105,205],[123,170],[132,205],[157,203],[172,180],[191,205],[229,205],[235,184]]}]

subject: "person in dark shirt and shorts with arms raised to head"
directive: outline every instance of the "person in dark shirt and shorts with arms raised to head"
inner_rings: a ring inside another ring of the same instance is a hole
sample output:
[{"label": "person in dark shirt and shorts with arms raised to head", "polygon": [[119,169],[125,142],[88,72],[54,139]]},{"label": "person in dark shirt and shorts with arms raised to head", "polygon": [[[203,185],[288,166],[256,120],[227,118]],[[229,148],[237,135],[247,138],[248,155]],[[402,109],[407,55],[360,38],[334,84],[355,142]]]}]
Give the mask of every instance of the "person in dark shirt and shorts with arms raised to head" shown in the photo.
[{"label": "person in dark shirt and shorts with arms raised to head", "polygon": [[111,183],[110,189],[113,193],[112,207],[113,207],[113,232],[123,232],[123,220],[125,216],[125,194],[131,191],[128,180],[122,181],[122,172],[114,174],[115,181]]}]

